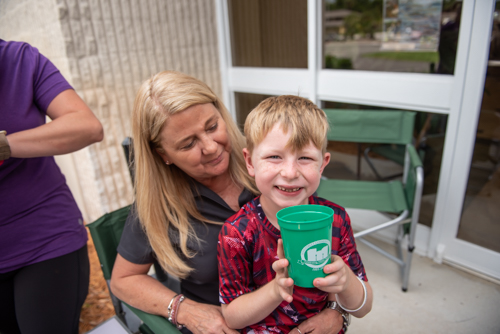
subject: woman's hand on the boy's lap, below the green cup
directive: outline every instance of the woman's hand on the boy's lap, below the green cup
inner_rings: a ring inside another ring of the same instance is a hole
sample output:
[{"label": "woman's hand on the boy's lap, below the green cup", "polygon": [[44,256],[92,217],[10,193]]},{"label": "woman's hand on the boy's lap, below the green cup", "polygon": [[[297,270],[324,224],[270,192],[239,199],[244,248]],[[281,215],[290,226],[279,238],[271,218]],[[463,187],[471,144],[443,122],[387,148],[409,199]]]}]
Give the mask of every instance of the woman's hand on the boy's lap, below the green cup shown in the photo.
[{"label": "woman's hand on the boy's lap, below the green cup", "polygon": [[[290,334],[337,334],[344,326],[344,319],[339,312],[332,309],[324,309],[315,316],[295,327]],[[299,328],[300,327],[300,328]]]}]

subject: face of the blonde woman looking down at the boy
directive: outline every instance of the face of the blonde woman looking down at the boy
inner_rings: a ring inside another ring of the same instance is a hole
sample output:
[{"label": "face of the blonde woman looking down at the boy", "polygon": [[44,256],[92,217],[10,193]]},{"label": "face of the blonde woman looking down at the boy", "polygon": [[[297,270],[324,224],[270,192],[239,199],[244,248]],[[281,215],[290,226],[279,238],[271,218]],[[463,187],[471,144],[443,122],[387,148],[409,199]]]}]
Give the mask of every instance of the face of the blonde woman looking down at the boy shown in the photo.
[{"label": "face of the blonde woman looking down at the boy", "polygon": [[197,104],[167,120],[160,134],[163,161],[207,184],[227,172],[231,143],[226,123],[211,103]]}]

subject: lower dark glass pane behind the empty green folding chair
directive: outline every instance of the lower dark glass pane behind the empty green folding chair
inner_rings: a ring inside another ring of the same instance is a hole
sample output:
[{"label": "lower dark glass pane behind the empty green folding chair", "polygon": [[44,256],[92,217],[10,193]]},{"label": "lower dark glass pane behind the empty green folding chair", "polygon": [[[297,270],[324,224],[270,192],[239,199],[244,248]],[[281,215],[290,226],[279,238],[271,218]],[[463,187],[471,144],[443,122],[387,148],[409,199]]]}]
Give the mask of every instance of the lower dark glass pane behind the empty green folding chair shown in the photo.
[{"label": "lower dark glass pane behind the empty green folding chair", "polygon": [[[390,110],[365,105],[323,102],[323,108],[333,109],[371,109]],[[396,110],[396,109],[393,109]],[[419,223],[432,226],[436,203],[437,186],[444,146],[447,117],[441,114],[417,112],[414,128],[414,142],[424,165],[424,189],[420,209]],[[335,126],[335,125],[334,125]],[[369,158],[372,169],[364,158],[364,151],[370,147]],[[401,179],[403,172],[401,154],[397,147],[386,147],[374,144],[357,144],[347,142],[329,142],[328,150],[332,153],[330,164],[325,168],[324,176],[328,178],[376,181],[379,177]],[[390,153],[390,154],[389,154]],[[358,167],[359,166],[359,167]]]}]

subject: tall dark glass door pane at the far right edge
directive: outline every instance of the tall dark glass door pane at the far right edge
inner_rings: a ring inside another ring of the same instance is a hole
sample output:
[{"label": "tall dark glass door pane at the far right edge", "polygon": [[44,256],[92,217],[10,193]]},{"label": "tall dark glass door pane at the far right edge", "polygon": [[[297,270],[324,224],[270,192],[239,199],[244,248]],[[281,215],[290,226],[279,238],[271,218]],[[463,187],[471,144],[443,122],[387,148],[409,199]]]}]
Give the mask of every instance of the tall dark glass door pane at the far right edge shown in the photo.
[{"label": "tall dark glass door pane at the far right edge", "polygon": [[497,2],[459,239],[500,252],[500,5]]}]

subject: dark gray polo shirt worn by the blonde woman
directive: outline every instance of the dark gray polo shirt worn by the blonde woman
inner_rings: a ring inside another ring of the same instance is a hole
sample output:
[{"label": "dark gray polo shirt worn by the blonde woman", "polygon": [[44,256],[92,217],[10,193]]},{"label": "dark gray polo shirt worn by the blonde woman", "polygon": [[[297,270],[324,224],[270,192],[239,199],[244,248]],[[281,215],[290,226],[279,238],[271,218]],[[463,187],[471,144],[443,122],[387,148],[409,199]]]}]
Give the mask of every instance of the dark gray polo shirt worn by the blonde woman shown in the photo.
[{"label": "dark gray polo shirt worn by the blonde woman", "polygon": [[[193,195],[198,210],[207,219],[224,222],[236,213],[219,195],[198,182],[193,185]],[[244,189],[238,198],[240,207],[254,197],[255,195]],[[222,225],[206,224],[193,218],[190,222],[201,240],[200,244],[188,240],[188,248],[196,251],[196,255],[191,259],[185,258],[180,252],[177,230],[169,232],[170,240],[177,248],[177,253],[190,267],[195,268],[189,277],[181,280],[181,292],[186,298],[197,302],[219,305],[217,241]],[[135,264],[156,262],[155,254],[140,226],[133,206],[125,223],[118,253]]]}]

